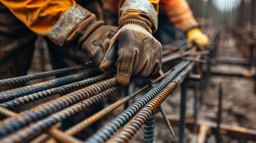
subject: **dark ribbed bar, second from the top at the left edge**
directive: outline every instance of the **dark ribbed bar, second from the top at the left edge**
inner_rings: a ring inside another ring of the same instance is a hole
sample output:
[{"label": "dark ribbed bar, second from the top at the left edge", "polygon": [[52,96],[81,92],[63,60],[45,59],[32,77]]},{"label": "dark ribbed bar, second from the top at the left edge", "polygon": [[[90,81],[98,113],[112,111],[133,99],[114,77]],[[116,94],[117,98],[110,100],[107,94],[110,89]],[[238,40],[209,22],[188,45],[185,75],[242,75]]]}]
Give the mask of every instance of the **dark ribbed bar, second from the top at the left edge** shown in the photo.
[{"label": "dark ribbed bar, second from the top at the left edge", "polygon": [[12,89],[10,91],[0,92],[0,103],[6,102],[9,100],[14,100],[14,98],[23,97],[25,95],[33,94],[39,91],[44,91],[47,89],[67,85],[69,83],[78,82],[85,79],[86,77],[92,77],[99,73],[101,73],[101,71],[98,69],[98,70],[88,71],[85,73],[79,73],[71,76],[61,77],[59,79],[49,80],[47,82],[36,83],[35,85],[29,85],[29,86],[24,86],[22,88]]}]

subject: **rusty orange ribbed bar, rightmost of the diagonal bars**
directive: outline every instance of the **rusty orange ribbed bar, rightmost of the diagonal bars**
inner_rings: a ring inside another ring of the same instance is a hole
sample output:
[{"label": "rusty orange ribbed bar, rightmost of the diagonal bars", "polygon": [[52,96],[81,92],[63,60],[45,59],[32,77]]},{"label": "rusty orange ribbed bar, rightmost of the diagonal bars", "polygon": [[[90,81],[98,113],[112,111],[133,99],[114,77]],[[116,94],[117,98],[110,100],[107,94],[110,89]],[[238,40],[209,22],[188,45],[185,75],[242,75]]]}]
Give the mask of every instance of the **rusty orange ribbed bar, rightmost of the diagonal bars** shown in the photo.
[{"label": "rusty orange ribbed bar, rightmost of the diagonal bars", "polygon": [[150,116],[156,111],[156,108],[159,107],[162,102],[180,85],[181,82],[186,78],[187,74],[192,70],[195,63],[189,64],[186,69],[181,71],[175,79],[173,79],[164,89],[162,89],[159,94],[157,94],[153,100],[147,103],[144,108],[142,108],[132,119],[124,126],[115,136],[113,136],[107,142],[128,142],[132,136],[137,133],[137,131],[141,128],[141,126],[146,123]]}]

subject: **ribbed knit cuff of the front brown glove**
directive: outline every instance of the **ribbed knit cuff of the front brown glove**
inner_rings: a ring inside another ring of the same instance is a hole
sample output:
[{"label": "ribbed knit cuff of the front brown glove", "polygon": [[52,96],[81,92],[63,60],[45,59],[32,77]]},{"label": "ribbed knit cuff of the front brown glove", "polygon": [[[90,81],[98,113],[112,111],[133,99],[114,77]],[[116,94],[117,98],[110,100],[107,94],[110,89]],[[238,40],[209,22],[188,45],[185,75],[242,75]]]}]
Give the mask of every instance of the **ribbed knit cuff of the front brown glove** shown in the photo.
[{"label": "ribbed knit cuff of the front brown glove", "polygon": [[147,30],[147,32],[149,32],[150,34],[152,34],[152,30],[150,29],[150,27],[142,20],[137,20],[137,19],[129,19],[129,20],[125,20],[124,22],[122,22],[120,25],[119,25],[119,29],[124,27],[124,26],[127,26],[127,25],[130,25],[130,24],[134,24],[136,26],[140,26],[140,27],[143,27],[143,29]]}]

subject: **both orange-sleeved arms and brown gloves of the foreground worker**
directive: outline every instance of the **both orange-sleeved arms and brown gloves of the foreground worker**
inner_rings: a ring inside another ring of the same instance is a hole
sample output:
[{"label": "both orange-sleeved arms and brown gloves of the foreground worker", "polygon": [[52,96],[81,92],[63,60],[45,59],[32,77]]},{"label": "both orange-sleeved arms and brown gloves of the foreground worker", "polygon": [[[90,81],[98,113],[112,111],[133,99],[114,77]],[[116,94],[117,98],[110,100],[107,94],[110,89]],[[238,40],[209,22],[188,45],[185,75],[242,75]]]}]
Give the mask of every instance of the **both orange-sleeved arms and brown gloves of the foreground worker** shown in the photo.
[{"label": "both orange-sleeved arms and brown gloves of the foreground worker", "polygon": [[156,0],[120,1],[119,30],[96,20],[75,0],[1,2],[36,34],[47,36],[57,45],[75,44],[98,66],[110,42],[100,68],[108,70],[116,63],[121,85],[128,85],[131,75],[149,76],[161,68],[161,43],[152,36],[158,27]]}]

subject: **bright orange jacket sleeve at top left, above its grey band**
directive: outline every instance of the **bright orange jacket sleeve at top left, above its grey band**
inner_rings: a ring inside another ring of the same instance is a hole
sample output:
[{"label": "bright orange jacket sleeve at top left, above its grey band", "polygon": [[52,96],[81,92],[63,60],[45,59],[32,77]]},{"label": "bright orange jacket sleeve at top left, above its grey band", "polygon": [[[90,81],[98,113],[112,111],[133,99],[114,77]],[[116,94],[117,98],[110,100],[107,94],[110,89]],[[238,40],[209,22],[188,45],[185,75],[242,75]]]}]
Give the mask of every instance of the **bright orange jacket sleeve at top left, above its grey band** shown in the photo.
[{"label": "bright orange jacket sleeve at top left, above its grey band", "polygon": [[47,35],[75,0],[0,0],[33,32]]}]

